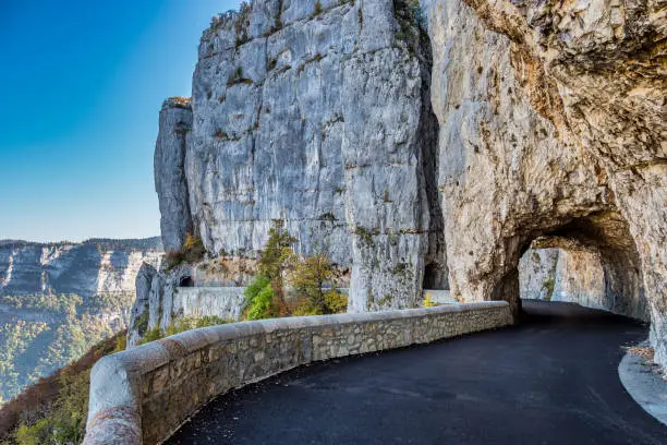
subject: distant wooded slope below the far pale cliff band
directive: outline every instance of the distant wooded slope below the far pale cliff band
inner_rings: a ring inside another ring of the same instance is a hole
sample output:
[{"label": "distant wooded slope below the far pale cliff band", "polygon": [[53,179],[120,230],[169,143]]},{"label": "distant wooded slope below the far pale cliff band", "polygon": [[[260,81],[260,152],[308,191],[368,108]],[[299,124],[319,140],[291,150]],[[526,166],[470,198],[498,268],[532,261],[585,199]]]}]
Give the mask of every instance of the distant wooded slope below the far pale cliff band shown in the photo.
[{"label": "distant wooded slope below the far pale cliff band", "polygon": [[130,292],[0,296],[0,399],[78,359],[125,327]]}]

